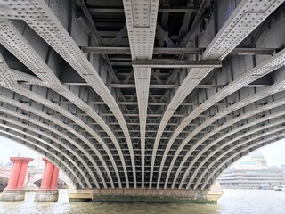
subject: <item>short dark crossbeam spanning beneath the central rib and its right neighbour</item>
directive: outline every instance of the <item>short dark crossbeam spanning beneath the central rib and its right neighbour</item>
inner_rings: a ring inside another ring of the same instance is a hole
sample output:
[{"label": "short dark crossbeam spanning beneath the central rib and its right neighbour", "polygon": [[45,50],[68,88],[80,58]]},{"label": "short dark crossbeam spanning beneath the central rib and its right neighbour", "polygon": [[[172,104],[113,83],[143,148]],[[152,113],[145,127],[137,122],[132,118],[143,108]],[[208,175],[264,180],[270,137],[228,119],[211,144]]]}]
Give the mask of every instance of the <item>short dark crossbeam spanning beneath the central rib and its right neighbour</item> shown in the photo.
[{"label": "short dark crossbeam spanning beneath the central rib and its right neighbour", "polygon": [[221,61],[136,60],[134,68],[218,68]]}]

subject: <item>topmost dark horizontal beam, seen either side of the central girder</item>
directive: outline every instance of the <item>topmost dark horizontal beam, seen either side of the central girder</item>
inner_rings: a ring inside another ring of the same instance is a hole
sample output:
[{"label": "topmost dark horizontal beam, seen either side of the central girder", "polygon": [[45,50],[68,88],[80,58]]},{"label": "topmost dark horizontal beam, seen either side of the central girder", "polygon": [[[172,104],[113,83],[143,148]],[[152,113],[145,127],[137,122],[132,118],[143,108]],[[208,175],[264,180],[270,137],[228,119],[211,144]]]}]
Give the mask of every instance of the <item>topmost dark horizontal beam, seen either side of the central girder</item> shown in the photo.
[{"label": "topmost dark horizontal beam, seen either side of the central girder", "polygon": [[[159,7],[159,12],[197,12],[198,9],[194,7],[180,7],[180,6],[171,6],[171,7]],[[96,14],[98,12],[125,12],[123,7],[97,7],[90,8],[89,12],[92,14]]]}]

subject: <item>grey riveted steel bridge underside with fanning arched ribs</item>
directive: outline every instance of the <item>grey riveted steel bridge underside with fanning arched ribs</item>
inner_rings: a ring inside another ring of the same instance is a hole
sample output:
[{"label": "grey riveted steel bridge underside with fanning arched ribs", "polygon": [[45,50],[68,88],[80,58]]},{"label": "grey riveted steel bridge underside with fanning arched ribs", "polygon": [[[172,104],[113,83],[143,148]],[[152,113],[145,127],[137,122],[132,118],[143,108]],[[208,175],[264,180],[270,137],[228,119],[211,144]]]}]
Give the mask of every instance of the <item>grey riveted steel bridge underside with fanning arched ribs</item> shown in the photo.
[{"label": "grey riveted steel bridge underside with fanning arched ribs", "polygon": [[1,0],[0,133],[78,194],[206,193],[285,136],[283,3]]}]

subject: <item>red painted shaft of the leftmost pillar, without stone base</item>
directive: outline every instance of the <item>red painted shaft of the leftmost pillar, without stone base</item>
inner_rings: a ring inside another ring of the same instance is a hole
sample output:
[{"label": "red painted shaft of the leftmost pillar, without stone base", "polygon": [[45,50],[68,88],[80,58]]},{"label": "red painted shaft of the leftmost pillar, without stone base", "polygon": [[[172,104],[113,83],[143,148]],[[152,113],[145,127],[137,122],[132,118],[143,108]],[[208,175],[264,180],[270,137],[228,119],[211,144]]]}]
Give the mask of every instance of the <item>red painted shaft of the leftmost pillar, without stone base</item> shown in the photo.
[{"label": "red painted shaft of the leftmost pillar, without stone base", "polygon": [[23,190],[25,177],[28,169],[28,162],[33,161],[32,158],[11,157],[12,171],[5,190]]}]

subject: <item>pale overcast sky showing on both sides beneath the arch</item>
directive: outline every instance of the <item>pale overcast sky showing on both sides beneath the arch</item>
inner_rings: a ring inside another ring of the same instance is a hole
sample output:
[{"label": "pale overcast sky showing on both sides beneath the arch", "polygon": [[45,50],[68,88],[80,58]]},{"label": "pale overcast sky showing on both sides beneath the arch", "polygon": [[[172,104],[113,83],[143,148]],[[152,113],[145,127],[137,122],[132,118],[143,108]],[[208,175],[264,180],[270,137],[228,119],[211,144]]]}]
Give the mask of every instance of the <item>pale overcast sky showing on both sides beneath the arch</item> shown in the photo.
[{"label": "pale overcast sky showing on both sides beneath the arch", "polygon": [[[265,156],[269,166],[280,167],[281,165],[285,165],[285,139],[266,145],[256,151],[261,152]],[[0,136],[0,161],[6,163],[9,161],[9,157],[18,156],[19,152],[22,157],[37,158],[39,155],[37,152],[34,152],[11,139]],[[239,161],[248,161],[249,159],[250,154],[241,158]]]}]

